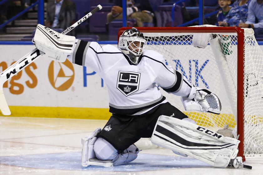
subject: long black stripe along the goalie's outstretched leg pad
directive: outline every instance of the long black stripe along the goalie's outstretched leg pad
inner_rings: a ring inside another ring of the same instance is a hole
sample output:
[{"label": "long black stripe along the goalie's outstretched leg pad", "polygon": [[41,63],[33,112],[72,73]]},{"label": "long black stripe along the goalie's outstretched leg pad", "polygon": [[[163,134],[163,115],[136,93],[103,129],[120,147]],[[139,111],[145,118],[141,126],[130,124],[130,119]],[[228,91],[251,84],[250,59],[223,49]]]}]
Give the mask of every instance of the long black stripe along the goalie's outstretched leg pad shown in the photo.
[{"label": "long black stripe along the goalie's outstretched leg pad", "polygon": [[180,136],[178,136],[177,134],[173,133],[172,131],[163,128],[160,125],[156,126],[156,131],[158,133],[161,133],[165,136],[167,136],[168,138],[171,138],[173,140],[175,140],[176,142],[184,145],[184,146],[189,146],[189,147],[224,147],[226,145],[229,145],[230,143],[224,144],[224,145],[214,145],[214,144],[206,144],[206,143],[195,143],[195,142],[190,142],[188,140],[185,140],[184,138],[181,138]]}]

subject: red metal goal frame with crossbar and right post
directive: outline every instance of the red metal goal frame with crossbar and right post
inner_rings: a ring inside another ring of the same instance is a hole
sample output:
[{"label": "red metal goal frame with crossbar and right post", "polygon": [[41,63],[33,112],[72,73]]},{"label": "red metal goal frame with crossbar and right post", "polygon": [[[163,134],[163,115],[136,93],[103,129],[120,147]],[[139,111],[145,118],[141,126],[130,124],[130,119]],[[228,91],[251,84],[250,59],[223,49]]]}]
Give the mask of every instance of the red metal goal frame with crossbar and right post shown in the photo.
[{"label": "red metal goal frame with crossbar and right post", "polygon": [[[120,28],[119,31],[118,31],[118,40],[119,40],[119,36],[126,29],[130,29],[130,28],[131,27],[122,27],[122,28]],[[173,43],[175,43],[175,40],[177,40],[178,38],[179,39],[176,41],[177,43],[178,42],[183,43],[185,41],[188,42],[192,38],[191,37],[185,37],[185,36],[187,36],[187,35],[191,36],[194,33],[211,33],[211,34],[212,33],[217,33],[221,37],[222,36],[230,36],[229,33],[232,33],[233,34],[233,38],[235,36],[235,41],[232,41],[232,45],[233,45],[232,47],[233,48],[234,47],[237,48],[236,49],[236,53],[235,53],[236,54],[236,59],[237,59],[237,63],[236,63],[236,66],[237,66],[237,72],[236,72],[236,74],[237,74],[236,75],[237,76],[237,79],[236,79],[237,94],[236,94],[236,97],[237,97],[237,99],[235,101],[236,101],[236,109],[237,109],[236,110],[236,115],[237,115],[237,117],[236,117],[237,118],[237,121],[236,121],[237,135],[239,135],[239,140],[240,140],[238,155],[242,156],[243,160],[245,160],[245,153],[244,153],[244,149],[246,149],[244,147],[244,96],[245,96],[245,91],[246,91],[246,89],[245,89],[245,82],[244,82],[244,79],[245,79],[245,74],[244,74],[244,66],[245,66],[245,64],[244,64],[244,60],[245,60],[244,59],[244,56],[245,56],[245,30],[240,28],[240,27],[137,27],[137,29],[140,32],[142,32],[144,35],[146,35],[147,33],[151,33],[151,37],[148,37],[148,38],[155,37],[154,33],[156,33],[156,38],[154,39],[154,41],[158,40],[159,43],[162,42],[163,38],[166,38],[167,41],[165,41],[165,42],[169,42],[168,43],[169,46],[167,46],[167,47],[171,47],[170,45],[173,45]],[[160,35],[160,33],[161,33],[161,35]],[[167,33],[169,33],[168,37],[166,36]],[[176,37],[172,36],[171,35],[172,33],[174,33]],[[182,37],[180,37],[180,33],[182,33]],[[162,39],[160,39],[160,38],[162,38]],[[184,39],[185,39],[185,41],[182,41]],[[173,42],[171,42],[172,40],[173,40]],[[161,45],[165,45],[165,42],[161,43]],[[255,41],[253,41],[253,44],[254,44],[254,42]],[[149,40],[148,40],[148,43],[149,43]],[[176,45],[178,45],[178,44],[176,44]],[[188,45],[188,44],[186,44],[186,45]],[[236,46],[234,46],[234,45],[236,45]],[[164,46],[162,46],[162,48],[163,47]],[[231,48],[231,46],[230,46],[230,48]],[[150,48],[150,49],[152,49],[152,48]],[[173,52],[171,50],[173,50],[173,49],[170,49],[169,52]],[[233,49],[233,50],[235,50],[235,49]],[[157,49],[157,51],[158,51],[158,49]],[[197,51],[197,52],[199,52],[199,51]],[[202,49],[200,49],[200,52],[202,52]],[[169,55],[172,55],[172,56],[176,57],[176,53],[172,53],[172,54],[169,54]],[[166,58],[165,56],[164,56],[164,58],[165,59],[169,59],[169,58]],[[173,62],[173,61],[171,61],[171,62]],[[178,64],[175,65],[175,67],[178,68]],[[189,75],[189,77],[190,77],[190,75]],[[211,89],[210,91],[214,92],[213,89]],[[220,98],[220,96],[219,96],[219,98]],[[224,105],[224,104],[222,104],[222,105]],[[261,154],[261,152],[260,152],[260,154]]]}]

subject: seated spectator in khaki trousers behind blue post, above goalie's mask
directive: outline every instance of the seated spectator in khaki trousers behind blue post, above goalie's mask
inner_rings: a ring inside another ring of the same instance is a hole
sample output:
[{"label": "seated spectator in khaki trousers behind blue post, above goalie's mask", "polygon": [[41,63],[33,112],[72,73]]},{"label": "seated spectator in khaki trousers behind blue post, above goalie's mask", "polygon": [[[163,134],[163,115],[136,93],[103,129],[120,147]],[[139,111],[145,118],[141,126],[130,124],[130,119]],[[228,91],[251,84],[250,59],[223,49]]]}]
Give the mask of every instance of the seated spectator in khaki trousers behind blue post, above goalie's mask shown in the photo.
[{"label": "seated spectator in khaki trousers behind blue post, above goalie's mask", "polygon": [[[161,0],[159,0],[161,2]],[[138,27],[143,27],[143,22],[152,22],[154,14],[152,13],[152,7],[149,0],[144,0],[139,3],[141,12],[135,6],[133,0],[127,0],[127,17],[136,19]],[[114,19],[122,19],[122,1],[114,0],[114,6],[111,12],[107,15],[107,23],[113,21]]]}]

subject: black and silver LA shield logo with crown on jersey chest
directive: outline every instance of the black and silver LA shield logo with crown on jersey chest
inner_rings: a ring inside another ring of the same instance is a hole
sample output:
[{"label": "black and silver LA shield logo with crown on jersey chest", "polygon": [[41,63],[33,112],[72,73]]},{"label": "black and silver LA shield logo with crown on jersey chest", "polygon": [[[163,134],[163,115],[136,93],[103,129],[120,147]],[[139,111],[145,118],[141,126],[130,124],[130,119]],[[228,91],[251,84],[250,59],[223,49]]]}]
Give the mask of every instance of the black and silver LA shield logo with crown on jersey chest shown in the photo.
[{"label": "black and silver LA shield logo with crown on jersey chest", "polygon": [[126,97],[139,89],[141,73],[119,71],[117,89]]}]

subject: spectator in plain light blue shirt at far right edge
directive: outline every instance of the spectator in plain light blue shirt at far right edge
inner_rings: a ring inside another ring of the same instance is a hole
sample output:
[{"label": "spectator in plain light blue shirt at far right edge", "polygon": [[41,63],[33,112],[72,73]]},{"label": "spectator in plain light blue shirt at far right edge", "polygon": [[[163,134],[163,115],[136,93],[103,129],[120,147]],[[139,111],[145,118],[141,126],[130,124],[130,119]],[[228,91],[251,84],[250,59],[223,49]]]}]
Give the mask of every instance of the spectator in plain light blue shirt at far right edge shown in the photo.
[{"label": "spectator in plain light blue shirt at far right edge", "polygon": [[[255,18],[258,19],[258,23],[255,23]],[[253,28],[255,37],[263,34],[263,0],[251,0],[248,6],[248,16],[245,23],[238,25],[242,28]]]}]

